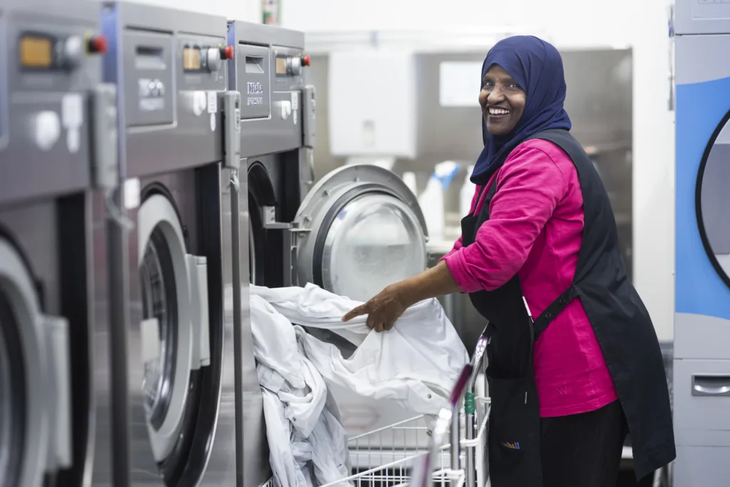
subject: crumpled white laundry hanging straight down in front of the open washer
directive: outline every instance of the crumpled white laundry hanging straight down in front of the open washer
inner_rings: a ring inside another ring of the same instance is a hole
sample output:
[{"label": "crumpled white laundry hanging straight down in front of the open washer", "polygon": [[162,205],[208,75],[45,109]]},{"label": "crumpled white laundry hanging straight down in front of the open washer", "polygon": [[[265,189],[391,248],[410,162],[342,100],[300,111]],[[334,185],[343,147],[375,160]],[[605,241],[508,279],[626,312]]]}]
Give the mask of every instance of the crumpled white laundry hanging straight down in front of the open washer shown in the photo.
[{"label": "crumpled white laundry hanging straight down in front of the open washer", "polygon": [[253,350],[274,485],[312,487],[312,472],[316,485],[347,477],[347,435],[322,376],[291,322],[258,296],[253,302]]}]

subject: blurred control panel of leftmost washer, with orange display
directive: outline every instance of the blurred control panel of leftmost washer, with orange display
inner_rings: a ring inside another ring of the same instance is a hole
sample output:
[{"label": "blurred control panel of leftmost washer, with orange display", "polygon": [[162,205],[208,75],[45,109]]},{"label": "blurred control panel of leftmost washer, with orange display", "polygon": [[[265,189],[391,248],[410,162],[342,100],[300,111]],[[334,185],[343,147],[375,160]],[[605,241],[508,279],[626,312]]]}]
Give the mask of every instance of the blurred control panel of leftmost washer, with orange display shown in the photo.
[{"label": "blurred control panel of leftmost washer, with orange display", "polygon": [[[29,2],[32,3],[32,2]],[[90,188],[94,91],[107,39],[93,4],[0,15],[0,204]]]}]

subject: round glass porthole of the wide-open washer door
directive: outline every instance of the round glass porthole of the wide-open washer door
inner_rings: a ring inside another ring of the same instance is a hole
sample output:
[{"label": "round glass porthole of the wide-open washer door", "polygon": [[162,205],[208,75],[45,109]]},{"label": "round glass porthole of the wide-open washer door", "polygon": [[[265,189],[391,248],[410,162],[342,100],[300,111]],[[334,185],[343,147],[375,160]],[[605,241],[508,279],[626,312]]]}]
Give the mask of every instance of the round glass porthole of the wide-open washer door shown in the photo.
[{"label": "round glass porthole of the wide-open washer door", "polygon": [[334,294],[364,301],[426,269],[420,223],[390,194],[370,192],[351,199],[323,230],[321,280]]}]

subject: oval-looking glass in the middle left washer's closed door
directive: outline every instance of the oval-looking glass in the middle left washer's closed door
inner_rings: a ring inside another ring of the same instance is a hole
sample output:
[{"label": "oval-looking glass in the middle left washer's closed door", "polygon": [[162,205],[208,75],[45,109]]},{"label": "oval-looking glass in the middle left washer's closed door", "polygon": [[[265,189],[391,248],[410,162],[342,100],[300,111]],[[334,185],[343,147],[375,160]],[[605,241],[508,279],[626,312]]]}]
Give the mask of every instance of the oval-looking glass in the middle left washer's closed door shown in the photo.
[{"label": "oval-looking glass in the middle left washer's closed door", "polygon": [[145,362],[142,388],[147,418],[154,429],[160,429],[172,398],[177,361],[177,290],[172,256],[159,227],[145,248],[139,281],[143,318],[155,318],[158,323],[158,355]]}]

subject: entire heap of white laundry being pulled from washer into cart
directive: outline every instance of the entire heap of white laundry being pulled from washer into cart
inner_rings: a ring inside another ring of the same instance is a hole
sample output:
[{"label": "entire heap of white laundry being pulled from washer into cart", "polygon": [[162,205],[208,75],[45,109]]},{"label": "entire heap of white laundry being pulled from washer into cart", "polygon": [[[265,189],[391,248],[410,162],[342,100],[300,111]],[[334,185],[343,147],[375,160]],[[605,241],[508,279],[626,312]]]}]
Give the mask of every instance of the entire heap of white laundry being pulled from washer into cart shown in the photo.
[{"label": "entire heap of white laundry being pulled from washer into cart", "polygon": [[[435,415],[468,361],[435,299],[416,304],[382,334],[371,333],[364,320],[342,323],[342,315],[360,303],[315,285],[252,286],[250,304],[271,463],[280,486],[337,485],[350,473],[347,438],[326,383]],[[337,347],[293,323],[332,329],[358,349],[343,358]]]}]

